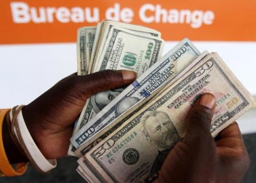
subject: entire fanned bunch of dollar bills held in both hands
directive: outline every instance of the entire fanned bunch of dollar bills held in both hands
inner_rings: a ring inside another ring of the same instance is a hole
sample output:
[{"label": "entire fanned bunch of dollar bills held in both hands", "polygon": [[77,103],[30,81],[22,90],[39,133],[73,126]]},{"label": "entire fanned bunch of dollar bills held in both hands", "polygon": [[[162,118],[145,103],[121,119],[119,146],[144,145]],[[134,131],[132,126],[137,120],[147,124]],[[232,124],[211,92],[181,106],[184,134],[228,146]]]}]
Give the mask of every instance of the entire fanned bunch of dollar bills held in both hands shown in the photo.
[{"label": "entire fanned bunch of dollar bills held in both hands", "polygon": [[[171,32],[170,32],[171,34]],[[217,53],[188,40],[162,56],[161,33],[105,20],[77,32],[78,74],[132,70],[137,79],[87,99],[70,139],[69,155],[87,182],[153,182],[186,134],[189,109],[203,93],[216,108],[213,137],[253,105],[253,98]]]}]

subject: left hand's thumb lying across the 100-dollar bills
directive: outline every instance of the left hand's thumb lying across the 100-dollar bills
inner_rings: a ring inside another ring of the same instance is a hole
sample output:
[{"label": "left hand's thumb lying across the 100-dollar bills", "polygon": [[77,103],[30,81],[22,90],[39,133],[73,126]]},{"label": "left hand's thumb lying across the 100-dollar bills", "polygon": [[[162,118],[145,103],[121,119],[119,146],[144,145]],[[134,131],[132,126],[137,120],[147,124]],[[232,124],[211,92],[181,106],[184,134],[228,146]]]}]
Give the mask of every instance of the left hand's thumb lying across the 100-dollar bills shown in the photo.
[{"label": "left hand's thumb lying across the 100-dollar bills", "polygon": [[130,84],[137,77],[133,71],[127,70],[105,70],[76,77],[76,87],[82,91],[86,98],[100,91],[119,88]]}]

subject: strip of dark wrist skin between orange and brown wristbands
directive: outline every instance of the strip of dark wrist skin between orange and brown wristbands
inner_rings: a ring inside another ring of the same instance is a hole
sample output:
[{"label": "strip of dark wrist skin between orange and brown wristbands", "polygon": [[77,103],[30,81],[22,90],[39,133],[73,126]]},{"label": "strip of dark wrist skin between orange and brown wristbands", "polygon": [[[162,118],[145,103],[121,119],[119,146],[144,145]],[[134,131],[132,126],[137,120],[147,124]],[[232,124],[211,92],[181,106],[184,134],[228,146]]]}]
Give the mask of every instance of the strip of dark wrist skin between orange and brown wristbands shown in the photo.
[{"label": "strip of dark wrist skin between orange and brown wristbands", "polygon": [[4,143],[5,153],[11,164],[28,162],[28,158],[20,152],[20,150],[14,144],[11,138],[11,135],[9,133],[9,129],[6,123],[6,117],[4,118],[4,122],[3,122],[3,143]]}]

